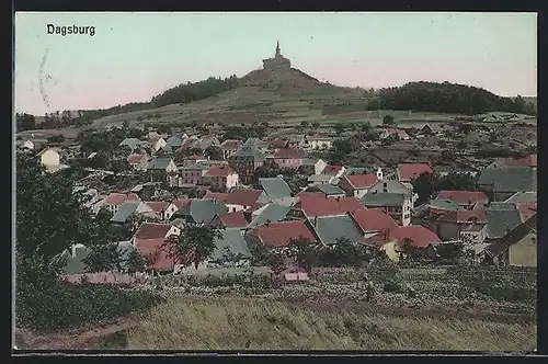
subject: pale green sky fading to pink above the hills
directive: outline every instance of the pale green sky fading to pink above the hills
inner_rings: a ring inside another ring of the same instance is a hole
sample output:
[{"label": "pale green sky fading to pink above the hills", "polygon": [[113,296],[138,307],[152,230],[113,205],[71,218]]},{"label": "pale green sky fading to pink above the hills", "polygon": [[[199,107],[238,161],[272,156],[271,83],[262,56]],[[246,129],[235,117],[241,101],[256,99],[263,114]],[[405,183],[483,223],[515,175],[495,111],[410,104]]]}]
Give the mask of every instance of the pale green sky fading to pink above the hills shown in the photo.
[{"label": "pale green sky fading to pink above the hills", "polygon": [[[47,24],[95,34],[47,34]],[[537,92],[535,13],[18,12],[15,110],[110,107],[209,76],[240,77],[261,68],[277,39],[295,68],[340,86],[425,80]]]}]

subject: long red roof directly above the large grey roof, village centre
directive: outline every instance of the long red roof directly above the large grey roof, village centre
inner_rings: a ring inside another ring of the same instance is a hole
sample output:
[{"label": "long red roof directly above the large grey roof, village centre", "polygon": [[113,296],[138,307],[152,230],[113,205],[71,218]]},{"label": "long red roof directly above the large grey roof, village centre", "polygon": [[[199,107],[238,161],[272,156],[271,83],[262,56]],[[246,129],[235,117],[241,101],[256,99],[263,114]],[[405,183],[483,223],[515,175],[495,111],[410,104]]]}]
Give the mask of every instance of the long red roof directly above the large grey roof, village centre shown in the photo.
[{"label": "long red roof directly above the large grey roof, village centre", "polygon": [[316,196],[299,196],[299,201],[294,206],[300,209],[306,216],[335,216],[365,209],[359,200],[355,197],[327,198]]}]

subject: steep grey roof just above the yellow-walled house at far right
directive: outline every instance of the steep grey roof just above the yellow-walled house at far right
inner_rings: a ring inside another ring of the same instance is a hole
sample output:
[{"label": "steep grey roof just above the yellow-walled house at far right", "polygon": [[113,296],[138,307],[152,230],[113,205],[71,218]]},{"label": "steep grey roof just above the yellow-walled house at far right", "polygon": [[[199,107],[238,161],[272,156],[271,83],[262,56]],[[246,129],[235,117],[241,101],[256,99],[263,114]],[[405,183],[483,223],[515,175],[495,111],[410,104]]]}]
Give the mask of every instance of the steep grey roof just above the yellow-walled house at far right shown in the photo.
[{"label": "steep grey roof just above the yellow-walled house at far right", "polygon": [[486,206],[487,242],[503,238],[513,228],[522,224],[522,218],[515,204],[490,203]]}]

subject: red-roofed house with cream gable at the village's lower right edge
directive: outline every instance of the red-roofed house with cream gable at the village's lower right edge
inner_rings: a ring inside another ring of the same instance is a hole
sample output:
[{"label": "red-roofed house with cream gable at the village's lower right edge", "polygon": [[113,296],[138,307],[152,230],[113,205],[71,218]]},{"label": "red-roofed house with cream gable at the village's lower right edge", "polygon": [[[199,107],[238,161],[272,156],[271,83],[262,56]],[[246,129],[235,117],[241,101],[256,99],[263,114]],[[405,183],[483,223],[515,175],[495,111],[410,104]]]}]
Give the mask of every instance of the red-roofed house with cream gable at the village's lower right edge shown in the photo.
[{"label": "red-roofed house with cream gable at the village's lower right edge", "polygon": [[433,231],[423,226],[398,226],[388,231],[377,234],[369,239],[369,243],[386,252],[388,258],[398,262],[403,244],[409,241],[413,248],[436,247],[442,240]]}]

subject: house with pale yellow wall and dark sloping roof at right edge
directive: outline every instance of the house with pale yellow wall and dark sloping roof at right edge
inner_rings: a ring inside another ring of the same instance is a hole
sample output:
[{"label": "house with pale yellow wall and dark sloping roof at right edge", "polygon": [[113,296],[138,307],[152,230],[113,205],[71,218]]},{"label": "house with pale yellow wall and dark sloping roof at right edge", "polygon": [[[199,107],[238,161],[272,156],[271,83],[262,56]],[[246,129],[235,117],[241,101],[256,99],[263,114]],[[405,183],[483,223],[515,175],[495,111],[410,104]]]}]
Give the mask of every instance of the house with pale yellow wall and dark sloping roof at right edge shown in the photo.
[{"label": "house with pale yellow wall and dark sloping roof at right edge", "polygon": [[505,265],[537,266],[537,215],[510,230],[504,237],[486,247],[490,261],[499,260]]}]

